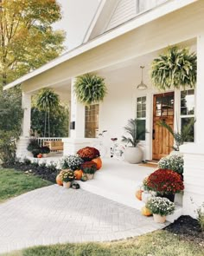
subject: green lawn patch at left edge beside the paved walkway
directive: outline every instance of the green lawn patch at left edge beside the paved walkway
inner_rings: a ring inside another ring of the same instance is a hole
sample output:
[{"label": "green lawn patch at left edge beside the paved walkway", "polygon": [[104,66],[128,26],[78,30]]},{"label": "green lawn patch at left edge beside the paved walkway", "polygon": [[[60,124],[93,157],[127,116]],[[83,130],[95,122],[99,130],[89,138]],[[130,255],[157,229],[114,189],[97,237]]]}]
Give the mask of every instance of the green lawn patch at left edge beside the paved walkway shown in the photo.
[{"label": "green lawn patch at left edge beside the paved walkway", "polygon": [[0,168],[0,202],[51,184],[50,181],[41,180],[33,174]]}]

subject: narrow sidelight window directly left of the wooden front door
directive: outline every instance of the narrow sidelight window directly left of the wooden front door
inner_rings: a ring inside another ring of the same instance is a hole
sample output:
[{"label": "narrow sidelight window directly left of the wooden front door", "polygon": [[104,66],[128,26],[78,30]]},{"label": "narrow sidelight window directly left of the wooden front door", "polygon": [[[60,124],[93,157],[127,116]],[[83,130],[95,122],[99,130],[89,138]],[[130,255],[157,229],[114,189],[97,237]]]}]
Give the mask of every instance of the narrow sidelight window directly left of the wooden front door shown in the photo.
[{"label": "narrow sidelight window directly left of the wooden front door", "polygon": [[[137,98],[137,131],[140,134],[146,130],[146,97]],[[139,137],[139,140],[145,141],[145,133]]]}]

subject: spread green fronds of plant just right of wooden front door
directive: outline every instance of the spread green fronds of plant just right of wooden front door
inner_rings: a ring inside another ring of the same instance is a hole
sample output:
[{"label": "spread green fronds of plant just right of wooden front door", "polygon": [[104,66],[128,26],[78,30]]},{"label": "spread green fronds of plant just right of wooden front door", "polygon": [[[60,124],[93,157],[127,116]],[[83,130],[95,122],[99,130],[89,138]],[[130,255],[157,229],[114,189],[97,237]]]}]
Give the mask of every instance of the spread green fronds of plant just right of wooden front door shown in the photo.
[{"label": "spread green fronds of plant just right of wooden front door", "polygon": [[157,124],[162,126],[163,128],[168,129],[169,133],[173,135],[175,139],[175,145],[172,147],[175,151],[179,151],[179,147],[185,142],[188,141],[188,137],[190,135],[190,132],[192,128],[194,128],[194,122],[195,120],[192,118],[188,125],[184,126],[182,128],[181,133],[180,132],[175,132],[169,124],[167,124],[165,121],[158,121]]}]

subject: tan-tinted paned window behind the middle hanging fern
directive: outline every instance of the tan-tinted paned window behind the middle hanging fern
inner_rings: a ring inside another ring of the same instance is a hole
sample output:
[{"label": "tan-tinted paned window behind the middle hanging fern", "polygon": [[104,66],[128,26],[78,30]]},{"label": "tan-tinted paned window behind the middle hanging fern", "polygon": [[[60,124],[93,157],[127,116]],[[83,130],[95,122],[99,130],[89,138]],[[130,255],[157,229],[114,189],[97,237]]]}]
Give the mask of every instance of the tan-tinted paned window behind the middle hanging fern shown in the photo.
[{"label": "tan-tinted paned window behind the middle hanging fern", "polygon": [[85,107],[85,137],[96,138],[99,130],[99,104]]}]

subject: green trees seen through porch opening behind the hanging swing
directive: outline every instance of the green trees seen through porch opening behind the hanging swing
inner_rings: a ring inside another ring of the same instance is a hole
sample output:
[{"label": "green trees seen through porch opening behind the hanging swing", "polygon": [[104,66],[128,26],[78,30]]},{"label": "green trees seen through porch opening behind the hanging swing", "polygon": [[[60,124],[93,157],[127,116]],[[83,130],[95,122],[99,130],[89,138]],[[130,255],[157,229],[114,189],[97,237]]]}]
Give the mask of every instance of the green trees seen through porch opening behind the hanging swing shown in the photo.
[{"label": "green trees seen through porch opening behind the hanging swing", "polygon": [[[31,128],[41,137],[44,136],[45,111],[32,108]],[[51,111],[49,116],[50,136],[67,137],[69,128],[69,111],[67,107],[59,106],[57,111]],[[48,134],[46,134],[48,135]]]}]

